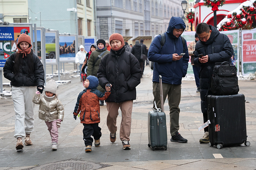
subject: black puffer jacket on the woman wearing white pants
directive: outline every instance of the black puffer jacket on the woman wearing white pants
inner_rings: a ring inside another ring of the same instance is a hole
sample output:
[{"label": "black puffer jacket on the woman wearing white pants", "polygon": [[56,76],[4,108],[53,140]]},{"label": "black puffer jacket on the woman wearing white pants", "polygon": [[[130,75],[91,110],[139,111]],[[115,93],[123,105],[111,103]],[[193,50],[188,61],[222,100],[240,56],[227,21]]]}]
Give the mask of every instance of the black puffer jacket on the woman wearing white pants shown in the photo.
[{"label": "black puffer jacket on the woman wearing white pants", "polygon": [[[43,64],[40,59],[31,50],[30,54],[33,55],[34,60],[34,73],[29,75],[29,63],[27,57],[24,55],[22,64],[19,66],[18,76],[13,74],[13,67],[15,62],[16,53],[11,54],[11,56],[6,60],[5,66],[3,67],[3,76],[11,81],[11,86],[21,87],[21,86],[43,86],[45,84],[45,72],[43,69]],[[21,56],[19,56],[21,57]]]}]

